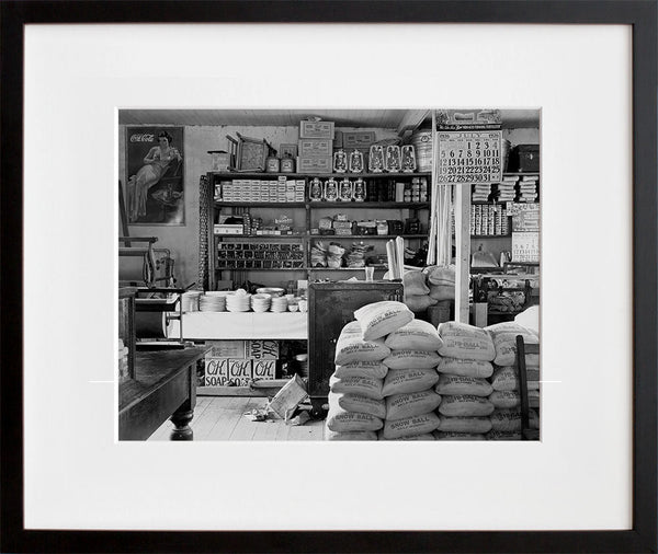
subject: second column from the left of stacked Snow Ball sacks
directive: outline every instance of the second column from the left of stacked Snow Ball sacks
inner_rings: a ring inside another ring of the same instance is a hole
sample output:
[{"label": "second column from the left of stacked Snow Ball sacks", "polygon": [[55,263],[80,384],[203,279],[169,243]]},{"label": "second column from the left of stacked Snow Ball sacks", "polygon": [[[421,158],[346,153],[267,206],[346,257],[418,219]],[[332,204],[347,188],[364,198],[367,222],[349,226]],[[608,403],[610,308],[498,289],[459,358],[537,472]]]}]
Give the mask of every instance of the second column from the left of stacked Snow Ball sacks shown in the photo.
[{"label": "second column from the left of stacked Snow Ball sacks", "polygon": [[435,409],[441,396],[438,350],[443,345],[431,323],[412,320],[390,333],[385,341],[390,355],[384,360],[388,373],[382,391],[386,419],[379,440],[434,440],[439,427]]}]

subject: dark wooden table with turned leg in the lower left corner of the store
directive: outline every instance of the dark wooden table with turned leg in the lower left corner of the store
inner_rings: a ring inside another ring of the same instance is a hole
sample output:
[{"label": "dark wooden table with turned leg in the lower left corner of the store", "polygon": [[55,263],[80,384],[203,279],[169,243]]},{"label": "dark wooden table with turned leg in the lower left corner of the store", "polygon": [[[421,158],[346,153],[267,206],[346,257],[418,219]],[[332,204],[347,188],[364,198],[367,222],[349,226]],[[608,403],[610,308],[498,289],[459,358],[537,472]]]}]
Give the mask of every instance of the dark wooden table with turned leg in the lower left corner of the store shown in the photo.
[{"label": "dark wooden table with turned leg in the lower left corner of the store", "polygon": [[135,379],[118,385],[118,440],[146,440],[169,418],[171,440],[192,440],[196,361],[209,348],[137,351]]}]

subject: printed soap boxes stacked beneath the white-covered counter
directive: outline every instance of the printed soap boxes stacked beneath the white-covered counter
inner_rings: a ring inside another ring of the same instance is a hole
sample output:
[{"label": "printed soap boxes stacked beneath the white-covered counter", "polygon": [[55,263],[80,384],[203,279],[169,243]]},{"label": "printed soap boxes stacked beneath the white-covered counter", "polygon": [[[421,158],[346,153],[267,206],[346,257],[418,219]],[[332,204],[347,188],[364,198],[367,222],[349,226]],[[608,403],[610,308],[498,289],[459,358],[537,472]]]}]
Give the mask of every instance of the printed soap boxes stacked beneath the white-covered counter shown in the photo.
[{"label": "printed soap boxes stacked beneath the white-covered counter", "polygon": [[254,379],[274,379],[276,341],[206,341],[205,386],[248,386]]}]

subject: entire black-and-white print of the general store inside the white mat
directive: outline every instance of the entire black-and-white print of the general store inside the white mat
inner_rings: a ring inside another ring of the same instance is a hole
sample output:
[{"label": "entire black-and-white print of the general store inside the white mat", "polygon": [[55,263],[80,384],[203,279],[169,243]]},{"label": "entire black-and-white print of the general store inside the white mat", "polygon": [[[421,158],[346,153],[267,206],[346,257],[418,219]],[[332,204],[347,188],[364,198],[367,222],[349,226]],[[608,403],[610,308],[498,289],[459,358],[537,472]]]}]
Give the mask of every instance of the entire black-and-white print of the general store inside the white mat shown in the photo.
[{"label": "entire black-and-white print of the general store inside the white mat", "polygon": [[120,109],[118,439],[541,440],[541,115]]}]

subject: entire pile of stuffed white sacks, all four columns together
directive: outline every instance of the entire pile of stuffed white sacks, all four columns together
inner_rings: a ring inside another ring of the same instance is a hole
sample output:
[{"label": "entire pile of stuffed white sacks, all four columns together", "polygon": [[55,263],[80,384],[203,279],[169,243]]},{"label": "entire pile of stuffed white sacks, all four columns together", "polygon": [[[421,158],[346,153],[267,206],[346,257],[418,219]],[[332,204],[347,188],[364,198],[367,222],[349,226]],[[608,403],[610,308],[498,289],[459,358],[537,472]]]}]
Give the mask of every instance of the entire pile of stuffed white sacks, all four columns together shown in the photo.
[{"label": "entire pile of stuffed white sacks, all four columns together", "polygon": [[[512,322],[436,330],[393,301],[354,316],[336,346],[326,440],[521,439],[515,341],[538,344],[534,332]],[[538,407],[538,356],[526,363]],[[536,412],[530,423],[538,428]]]}]

